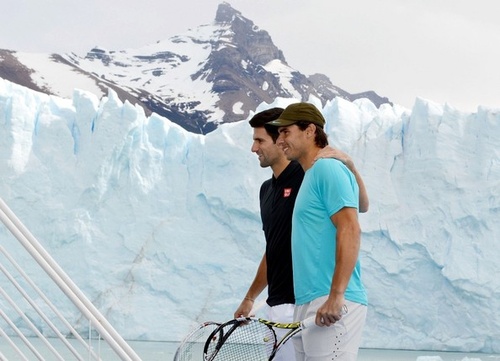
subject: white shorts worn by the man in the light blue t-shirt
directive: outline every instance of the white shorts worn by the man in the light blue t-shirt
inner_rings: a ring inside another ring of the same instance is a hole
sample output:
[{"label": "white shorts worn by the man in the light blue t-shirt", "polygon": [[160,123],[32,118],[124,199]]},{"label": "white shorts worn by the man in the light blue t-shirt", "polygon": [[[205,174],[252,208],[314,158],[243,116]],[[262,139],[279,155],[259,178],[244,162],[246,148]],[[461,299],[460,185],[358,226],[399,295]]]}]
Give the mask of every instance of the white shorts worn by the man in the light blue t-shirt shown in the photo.
[{"label": "white shorts worn by the man in the light blue t-shirt", "polygon": [[[315,316],[327,298],[328,296],[319,297],[304,305],[295,306],[294,320]],[[347,300],[346,306],[347,314],[333,325],[313,325],[292,339],[297,361],[356,361],[367,307]]]}]

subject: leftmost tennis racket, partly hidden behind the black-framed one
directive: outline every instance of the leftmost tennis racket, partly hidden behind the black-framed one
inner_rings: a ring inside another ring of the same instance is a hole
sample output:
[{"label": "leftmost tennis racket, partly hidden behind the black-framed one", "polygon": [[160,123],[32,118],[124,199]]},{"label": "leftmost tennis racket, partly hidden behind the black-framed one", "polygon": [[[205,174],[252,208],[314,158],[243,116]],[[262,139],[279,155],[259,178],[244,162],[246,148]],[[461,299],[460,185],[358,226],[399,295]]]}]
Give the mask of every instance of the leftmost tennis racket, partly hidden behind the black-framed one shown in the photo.
[{"label": "leftmost tennis racket, partly hidden behind the black-framed one", "polygon": [[209,336],[217,337],[214,332],[221,324],[204,322],[191,331],[177,348],[174,361],[202,361],[203,347]]}]

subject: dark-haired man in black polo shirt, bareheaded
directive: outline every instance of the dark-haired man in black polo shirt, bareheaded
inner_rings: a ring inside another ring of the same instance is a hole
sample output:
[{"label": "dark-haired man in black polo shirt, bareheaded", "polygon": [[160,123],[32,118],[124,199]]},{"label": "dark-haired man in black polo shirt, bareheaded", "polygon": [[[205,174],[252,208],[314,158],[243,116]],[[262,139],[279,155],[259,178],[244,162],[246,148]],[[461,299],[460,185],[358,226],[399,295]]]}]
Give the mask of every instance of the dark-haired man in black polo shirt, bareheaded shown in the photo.
[{"label": "dark-haired man in black polo shirt, bareheaded", "polygon": [[[248,316],[255,299],[268,288],[266,303],[268,318],[277,322],[293,321],[293,272],[291,256],[292,213],[304,171],[299,163],[289,161],[283,150],[276,145],[278,131],[266,123],[276,120],[282,108],[272,108],[257,113],[250,119],[253,128],[252,152],[259,157],[260,166],[271,167],[273,176],[260,189],[260,211],[266,238],[266,251],[243,301],[234,313],[235,317]],[[318,158],[334,157],[341,160],[355,175],[359,186],[360,212],[368,210],[368,196],[361,176],[351,158],[330,147]],[[293,361],[295,352],[291,342],[286,343],[276,355],[276,361]]]}]

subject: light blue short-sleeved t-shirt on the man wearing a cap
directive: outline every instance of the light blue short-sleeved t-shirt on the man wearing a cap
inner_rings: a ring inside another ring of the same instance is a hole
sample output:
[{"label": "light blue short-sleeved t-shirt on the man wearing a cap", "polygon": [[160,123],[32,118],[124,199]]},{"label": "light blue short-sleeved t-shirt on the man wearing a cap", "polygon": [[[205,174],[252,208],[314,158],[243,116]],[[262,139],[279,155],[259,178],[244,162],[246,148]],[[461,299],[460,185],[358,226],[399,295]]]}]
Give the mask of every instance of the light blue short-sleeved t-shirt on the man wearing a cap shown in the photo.
[{"label": "light blue short-sleeved t-shirt on the man wearing a cap", "polygon": [[[337,236],[330,216],[344,207],[358,209],[358,203],[356,178],[342,162],[320,159],[305,173],[292,218],[296,304],[305,304],[330,293]],[[367,304],[359,259],[344,297],[352,302]]]}]

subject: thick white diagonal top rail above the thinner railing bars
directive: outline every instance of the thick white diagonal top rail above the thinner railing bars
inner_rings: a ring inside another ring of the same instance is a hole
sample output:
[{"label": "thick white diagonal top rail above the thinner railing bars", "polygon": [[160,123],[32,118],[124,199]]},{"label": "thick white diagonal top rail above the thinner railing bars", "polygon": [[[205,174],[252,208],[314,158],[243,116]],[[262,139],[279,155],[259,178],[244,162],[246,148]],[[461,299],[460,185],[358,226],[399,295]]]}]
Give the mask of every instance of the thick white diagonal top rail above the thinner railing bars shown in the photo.
[{"label": "thick white diagonal top rail above the thinner railing bars", "polygon": [[78,310],[90,320],[93,327],[123,361],[141,361],[135,351],[125,342],[113,326],[90,302],[69,276],[55,262],[36,238],[16,217],[7,204],[0,198],[0,220],[28,253],[57,284]]}]

